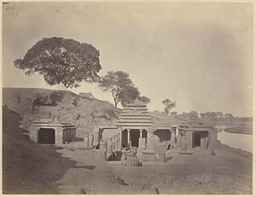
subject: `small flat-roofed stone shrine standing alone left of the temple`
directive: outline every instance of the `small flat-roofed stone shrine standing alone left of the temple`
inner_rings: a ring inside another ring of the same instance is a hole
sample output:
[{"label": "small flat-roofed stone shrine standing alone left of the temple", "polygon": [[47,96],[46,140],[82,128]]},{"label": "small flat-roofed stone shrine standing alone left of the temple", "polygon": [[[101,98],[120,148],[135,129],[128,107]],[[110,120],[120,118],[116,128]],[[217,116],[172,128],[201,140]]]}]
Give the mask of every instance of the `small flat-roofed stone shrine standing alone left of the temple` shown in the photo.
[{"label": "small flat-roofed stone shrine standing alone left of the temple", "polygon": [[34,120],[29,130],[29,138],[37,143],[61,145],[74,142],[75,136],[75,125],[60,122],[56,117]]}]

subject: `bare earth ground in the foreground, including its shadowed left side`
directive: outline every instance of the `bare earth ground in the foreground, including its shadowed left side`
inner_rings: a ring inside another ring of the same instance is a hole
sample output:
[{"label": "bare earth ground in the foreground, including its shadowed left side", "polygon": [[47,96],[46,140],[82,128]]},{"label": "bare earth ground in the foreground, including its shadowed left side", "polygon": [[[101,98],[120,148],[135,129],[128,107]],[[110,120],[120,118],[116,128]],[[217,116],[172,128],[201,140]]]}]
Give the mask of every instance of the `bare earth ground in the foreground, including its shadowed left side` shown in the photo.
[{"label": "bare earth ground in the foreground, including its shadowed left side", "polygon": [[20,120],[3,113],[3,194],[252,194],[253,156],[234,148],[128,167],[103,163],[93,150],[30,142]]}]

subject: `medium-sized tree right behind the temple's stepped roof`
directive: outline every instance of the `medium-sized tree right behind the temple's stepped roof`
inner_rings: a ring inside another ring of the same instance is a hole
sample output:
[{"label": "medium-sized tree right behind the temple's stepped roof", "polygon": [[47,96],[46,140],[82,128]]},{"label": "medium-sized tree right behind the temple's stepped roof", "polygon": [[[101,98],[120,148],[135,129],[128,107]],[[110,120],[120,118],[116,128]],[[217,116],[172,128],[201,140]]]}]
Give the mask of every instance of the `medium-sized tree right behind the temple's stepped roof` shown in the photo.
[{"label": "medium-sized tree right behind the temple's stepped roof", "polygon": [[113,96],[114,107],[117,107],[119,102],[122,106],[126,103],[139,99],[141,101],[150,102],[146,96],[140,96],[140,92],[132,83],[127,72],[117,71],[108,72],[99,80],[98,86],[103,91],[110,91]]}]

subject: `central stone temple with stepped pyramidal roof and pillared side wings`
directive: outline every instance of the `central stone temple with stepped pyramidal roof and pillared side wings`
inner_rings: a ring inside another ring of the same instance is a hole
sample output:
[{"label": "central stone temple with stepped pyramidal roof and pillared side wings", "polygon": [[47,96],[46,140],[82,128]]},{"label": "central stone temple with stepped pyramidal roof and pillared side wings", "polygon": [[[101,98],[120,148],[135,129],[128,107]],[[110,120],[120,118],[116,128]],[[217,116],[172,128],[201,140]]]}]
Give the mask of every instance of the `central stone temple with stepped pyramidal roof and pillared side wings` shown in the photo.
[{"label": "central stone temple with stepped pyramidal roof and pillared side wings", "polygon": [[123,108],[117,124],[102,126],[99,141],[119,136],[121,148],[152,149],[155,143],[183,147],[207,148],[217,142],[217,133],[211,125],[188,125],[180,119],[164,113],[149,113],[143,101],[133,101]]}]

